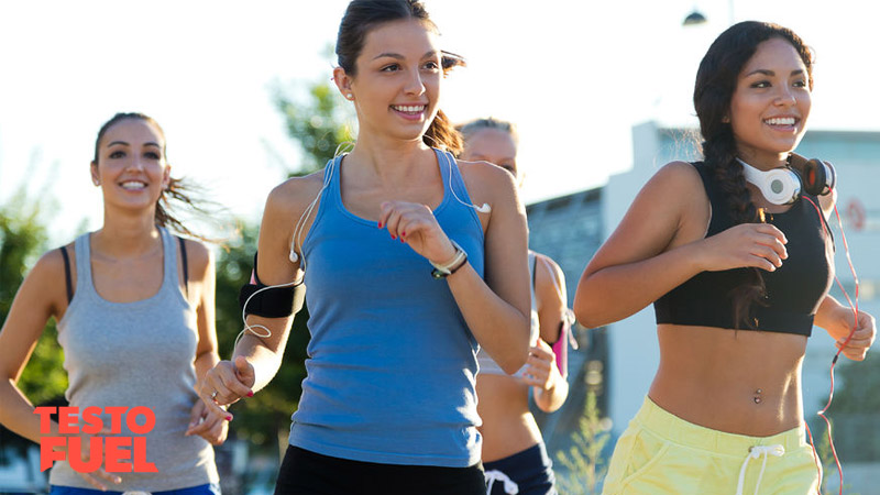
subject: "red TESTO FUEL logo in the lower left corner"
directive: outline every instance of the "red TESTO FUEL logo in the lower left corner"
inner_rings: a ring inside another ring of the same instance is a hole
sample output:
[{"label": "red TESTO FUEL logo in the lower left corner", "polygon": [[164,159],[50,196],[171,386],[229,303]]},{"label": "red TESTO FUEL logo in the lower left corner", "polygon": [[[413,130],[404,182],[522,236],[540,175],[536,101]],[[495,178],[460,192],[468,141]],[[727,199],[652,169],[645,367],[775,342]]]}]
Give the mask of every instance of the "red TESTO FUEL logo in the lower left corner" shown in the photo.
[{"label": "red TESTO FUEL logo in the lower left corner", "polygon": [[[52,437],[51,416],[58,413],[58,437]],[[55,461],[66,460],[79,473],[91,473],[101,468],[108,473],[155,473],[156,465],[146,462],[146,438],[144,437],[90,437],[84,446],[86,435],[119,435],[122,417],[134,435],[146,435],[156,425],[156,416],[148,407],[37,407],[40,432],[40,471],[52,468]],[[110,417],[110,426],[101,417]],[[139,425],[138,419],[144,418]],[[81,426],[79,426],[81,425]],[[62,448],[62,450],[55,450]],[[67,455],[67,452],[84,452],[84,455]],[[88,453],[86,455],[85,453]],[[131,461],[131,462],[127,462]]]}]

